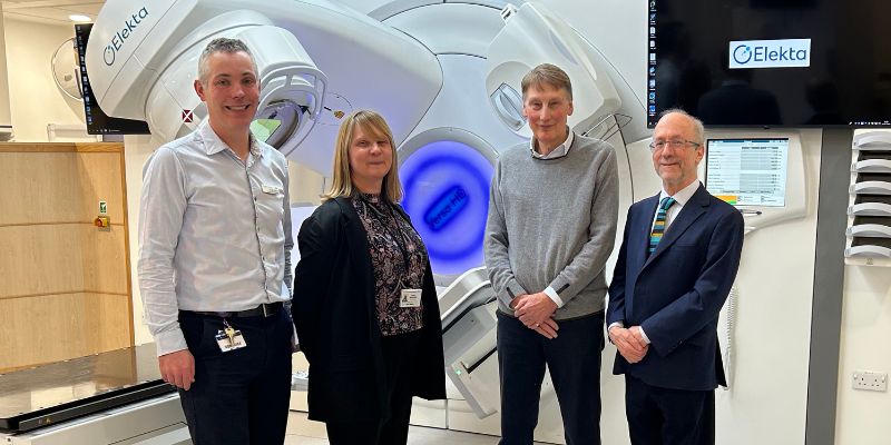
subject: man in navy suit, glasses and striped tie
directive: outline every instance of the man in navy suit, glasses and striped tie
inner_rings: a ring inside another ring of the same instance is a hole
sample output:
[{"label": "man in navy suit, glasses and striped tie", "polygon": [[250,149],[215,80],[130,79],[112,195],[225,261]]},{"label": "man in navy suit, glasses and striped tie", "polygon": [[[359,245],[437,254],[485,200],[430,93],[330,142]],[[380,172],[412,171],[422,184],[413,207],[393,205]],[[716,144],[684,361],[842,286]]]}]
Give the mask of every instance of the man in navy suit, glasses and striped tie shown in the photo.
[{"label": "man in navy suit, glasses and striped tie", "polygon": [[663,190],[628,209],[609,286],[607,325],[625,374],[631,444],[714,444],[715,396],[726,385],[717,319],[743,247],[743,217],[696,177],[702,122],[663,113],[653,165]]}]

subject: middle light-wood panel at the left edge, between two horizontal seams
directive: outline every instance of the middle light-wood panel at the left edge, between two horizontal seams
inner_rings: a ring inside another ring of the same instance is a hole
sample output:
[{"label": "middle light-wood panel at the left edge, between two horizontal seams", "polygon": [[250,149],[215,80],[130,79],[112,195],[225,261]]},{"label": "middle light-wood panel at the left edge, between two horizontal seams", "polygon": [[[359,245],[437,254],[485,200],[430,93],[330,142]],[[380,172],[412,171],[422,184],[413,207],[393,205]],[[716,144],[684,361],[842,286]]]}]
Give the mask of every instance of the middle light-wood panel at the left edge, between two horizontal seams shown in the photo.
[{"label": "middle light-wood panel at the left edge, between two horizontal seams", "polygon": [[81,238],[74,224],[0,226],[0,298],[82,291]]}]

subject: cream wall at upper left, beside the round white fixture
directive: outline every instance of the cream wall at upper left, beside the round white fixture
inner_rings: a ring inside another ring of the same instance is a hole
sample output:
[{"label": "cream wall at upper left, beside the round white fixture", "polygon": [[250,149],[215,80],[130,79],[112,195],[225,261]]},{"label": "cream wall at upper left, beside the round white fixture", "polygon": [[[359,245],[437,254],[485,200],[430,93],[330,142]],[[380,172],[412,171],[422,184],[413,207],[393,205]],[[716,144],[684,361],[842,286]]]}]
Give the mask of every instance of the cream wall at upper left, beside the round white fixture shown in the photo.
[{"label": "cream wall at upper left, beside the round white fixture", "polygon": [[52,26],[11,19],[4,20],[3,24],[16,141],[48,141],[48,123],[84,126],[82,106],[67,99],[56,88],[50,69],[56,48],[74,37],[74,24]]}]

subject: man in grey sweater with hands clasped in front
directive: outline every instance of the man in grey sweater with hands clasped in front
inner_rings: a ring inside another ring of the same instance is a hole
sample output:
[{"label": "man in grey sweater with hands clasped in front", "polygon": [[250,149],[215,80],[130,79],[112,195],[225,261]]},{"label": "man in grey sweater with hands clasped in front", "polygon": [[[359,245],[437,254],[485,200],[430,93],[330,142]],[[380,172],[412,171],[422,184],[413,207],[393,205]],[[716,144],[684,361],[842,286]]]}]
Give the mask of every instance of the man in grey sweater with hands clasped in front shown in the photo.
[{"label": "man in grey sweater with hands clasped in front", "polygon": [[616,152],[574,135],[572,87],[545,63],[522,79],[530,144],[501,154],[486,226],[498,295],[501,444],[528,445],[545,367],[567,444],[600,443],[606,259],[618,211]]}]

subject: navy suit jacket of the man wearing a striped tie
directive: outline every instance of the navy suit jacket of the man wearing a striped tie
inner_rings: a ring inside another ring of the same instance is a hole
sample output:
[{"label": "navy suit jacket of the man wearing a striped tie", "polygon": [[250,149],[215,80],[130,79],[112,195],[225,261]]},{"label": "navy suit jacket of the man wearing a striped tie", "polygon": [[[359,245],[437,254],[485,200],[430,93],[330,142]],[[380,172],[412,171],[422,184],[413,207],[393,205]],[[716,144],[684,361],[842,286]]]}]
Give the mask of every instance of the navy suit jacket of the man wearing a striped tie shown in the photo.
[{"label": "navy suit jacket of the man wearing a striped tie", "polygon": [[650,340],[643,360],[616,354],[614,374],[674,389],[726,385],[717,319],[743,248],[743,217],[699,188],[647,256],[659,196],[631,205],[609,286],[607,326],[640,326]]}]

